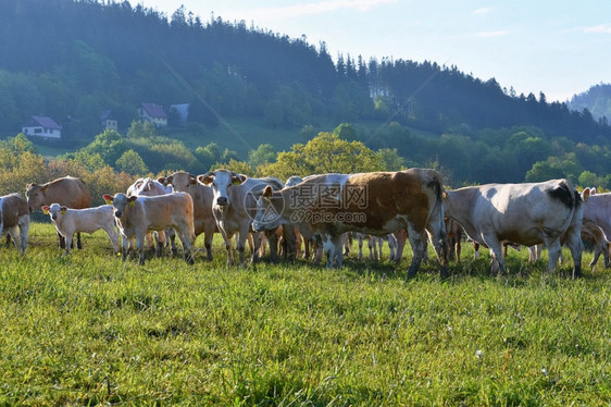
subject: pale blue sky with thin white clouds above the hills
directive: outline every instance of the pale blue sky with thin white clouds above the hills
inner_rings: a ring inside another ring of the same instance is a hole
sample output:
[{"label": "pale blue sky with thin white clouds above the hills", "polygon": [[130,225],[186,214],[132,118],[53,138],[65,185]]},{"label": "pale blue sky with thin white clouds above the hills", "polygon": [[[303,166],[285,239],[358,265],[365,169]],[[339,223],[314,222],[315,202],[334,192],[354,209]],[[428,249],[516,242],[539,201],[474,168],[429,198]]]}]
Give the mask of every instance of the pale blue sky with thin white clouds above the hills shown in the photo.
[{"label": "pale blue sky with thin white clouds above the hills", "polygon": [[244,21],[329,54],[431,61],[518,95],[566,101],[611,83],[608,0],[129,0],[165,13]]}]

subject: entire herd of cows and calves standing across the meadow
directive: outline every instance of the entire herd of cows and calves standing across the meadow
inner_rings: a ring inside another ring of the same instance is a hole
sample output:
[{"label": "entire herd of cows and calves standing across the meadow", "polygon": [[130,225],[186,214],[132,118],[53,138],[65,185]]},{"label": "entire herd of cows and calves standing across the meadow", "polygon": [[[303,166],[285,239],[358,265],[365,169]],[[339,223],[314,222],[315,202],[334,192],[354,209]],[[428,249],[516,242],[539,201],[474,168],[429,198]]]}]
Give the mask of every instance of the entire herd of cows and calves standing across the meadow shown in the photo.
[{"label": "entire herd of cows and calves standing across the meadow", "polygon": [[211,260],[213,234],[219,232],[228,264],[236,262],[235,236],[239,263],[245,262],[247,243],[252,261],[258,261],[266,244],[273,261],[278,244],[284,256],[294,260],[303,243],[304,257],[313,257],[317,263],[324,254],[327,267],[341,267],[346,236],[354,233],[360,247],[363,238],[369,239],[370,250],[382,242],[376,236],[387,238],[395,262],[401,260],[409,239],[413,256],[408,276],[416,273],[431,243],[440,275],[446,278],[454,250],[460,261],[464,231],[476,245],[490,249],[492,271],[503,274],[503,246],[527,246],[534,259],[545,246],[552,271],[561,246],[566,245],[573,276],[578,278],[582,238],[594,244],[590,266],[600,255],[609,266],[611,194],[596,194],[594,188],[579,194],[566,180],[447,190],[440,175],[429,169],[292,176],[286,184],[274,177],[216,170],[198,176],[180,171],[158,180],[138,178],[125,193],[104,194],[108,205],[96,208],[90,207],[91,194],[85,183],[71,176],[28,184],[25,196],[0,197],[0,233],[10,235],[22,254],[28,242],[29,213],[42,209],[66,252],[75,235],[76,246],[82,248],[80,232],[103,230],[115,254],[121,236],[123,259],[137,251],[140,263],[145,249],[155,242],[158,255],[166,244],[176,252],[175,236],[185,260],[192,263],[200,234]]}]

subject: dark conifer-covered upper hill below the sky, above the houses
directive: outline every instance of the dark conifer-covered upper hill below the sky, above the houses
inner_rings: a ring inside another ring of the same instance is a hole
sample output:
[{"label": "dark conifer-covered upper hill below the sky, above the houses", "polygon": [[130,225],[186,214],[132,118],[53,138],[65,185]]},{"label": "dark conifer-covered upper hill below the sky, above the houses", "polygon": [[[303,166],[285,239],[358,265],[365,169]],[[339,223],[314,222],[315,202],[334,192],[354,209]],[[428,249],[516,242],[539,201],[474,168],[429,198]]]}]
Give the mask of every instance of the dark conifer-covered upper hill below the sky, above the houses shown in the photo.
[{"label": "dark conifer-covered upper hill below the sky, above the houses", "polygon": [[[184,8],[166,16],[121,1],[0,0],[0,55],[2,134],[43,112],[73,118],[73,136],[90,138],[104,109],[129,123],[142,101],[201,104],[196,89],[219,114],[265,118],[272,127],[391,115],[432,132],[528,124],[573,140],[611,135],[587,112],[456,66],[350,55],[334,63],[324,44],[202,22]],[[207,119],[215,121],[203,111]]]}]

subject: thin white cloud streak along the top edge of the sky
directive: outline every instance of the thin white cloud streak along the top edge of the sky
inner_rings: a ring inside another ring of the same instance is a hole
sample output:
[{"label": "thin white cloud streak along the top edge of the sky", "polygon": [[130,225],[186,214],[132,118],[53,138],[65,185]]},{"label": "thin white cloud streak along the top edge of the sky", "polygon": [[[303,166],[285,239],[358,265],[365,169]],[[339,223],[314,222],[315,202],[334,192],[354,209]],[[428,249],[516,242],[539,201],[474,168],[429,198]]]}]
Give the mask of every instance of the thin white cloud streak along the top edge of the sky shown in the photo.
[{"label": "thin white cloud streak along the top edge of the sky", "polygon": [[278,20],[299,17],[302,15],[324,14],[337,10],[352,9],[366,12],[377,5],[396,3],[397,0],[327,0],[313,3],[287,5],[280,8],[260,8],[242,10],[240,14],[248,14],[251,20]]}]

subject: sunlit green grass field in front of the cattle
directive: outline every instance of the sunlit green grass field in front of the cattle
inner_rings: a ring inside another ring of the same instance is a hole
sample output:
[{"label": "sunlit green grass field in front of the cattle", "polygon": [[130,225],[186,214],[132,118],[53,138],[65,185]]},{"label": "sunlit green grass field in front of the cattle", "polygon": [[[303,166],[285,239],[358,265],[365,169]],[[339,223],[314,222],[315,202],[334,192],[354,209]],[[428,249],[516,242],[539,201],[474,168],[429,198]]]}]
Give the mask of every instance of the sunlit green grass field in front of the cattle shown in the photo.
[{"label": "sunlit green grass field in front of the cattle", "polygon": [[99,232],[84,245],[63,256],[35,223],[24,258],[0,250],[0,405],[611,402],[602,260],[573,281],[569,262],[547,274],[510,251],[510,275],[490,276],[486,250],[465,248],[440,282],[434,262],[404,280],[410,250],[397,269],[354,255],[228,269],[220,240],[191,267],[122,262]]}]

